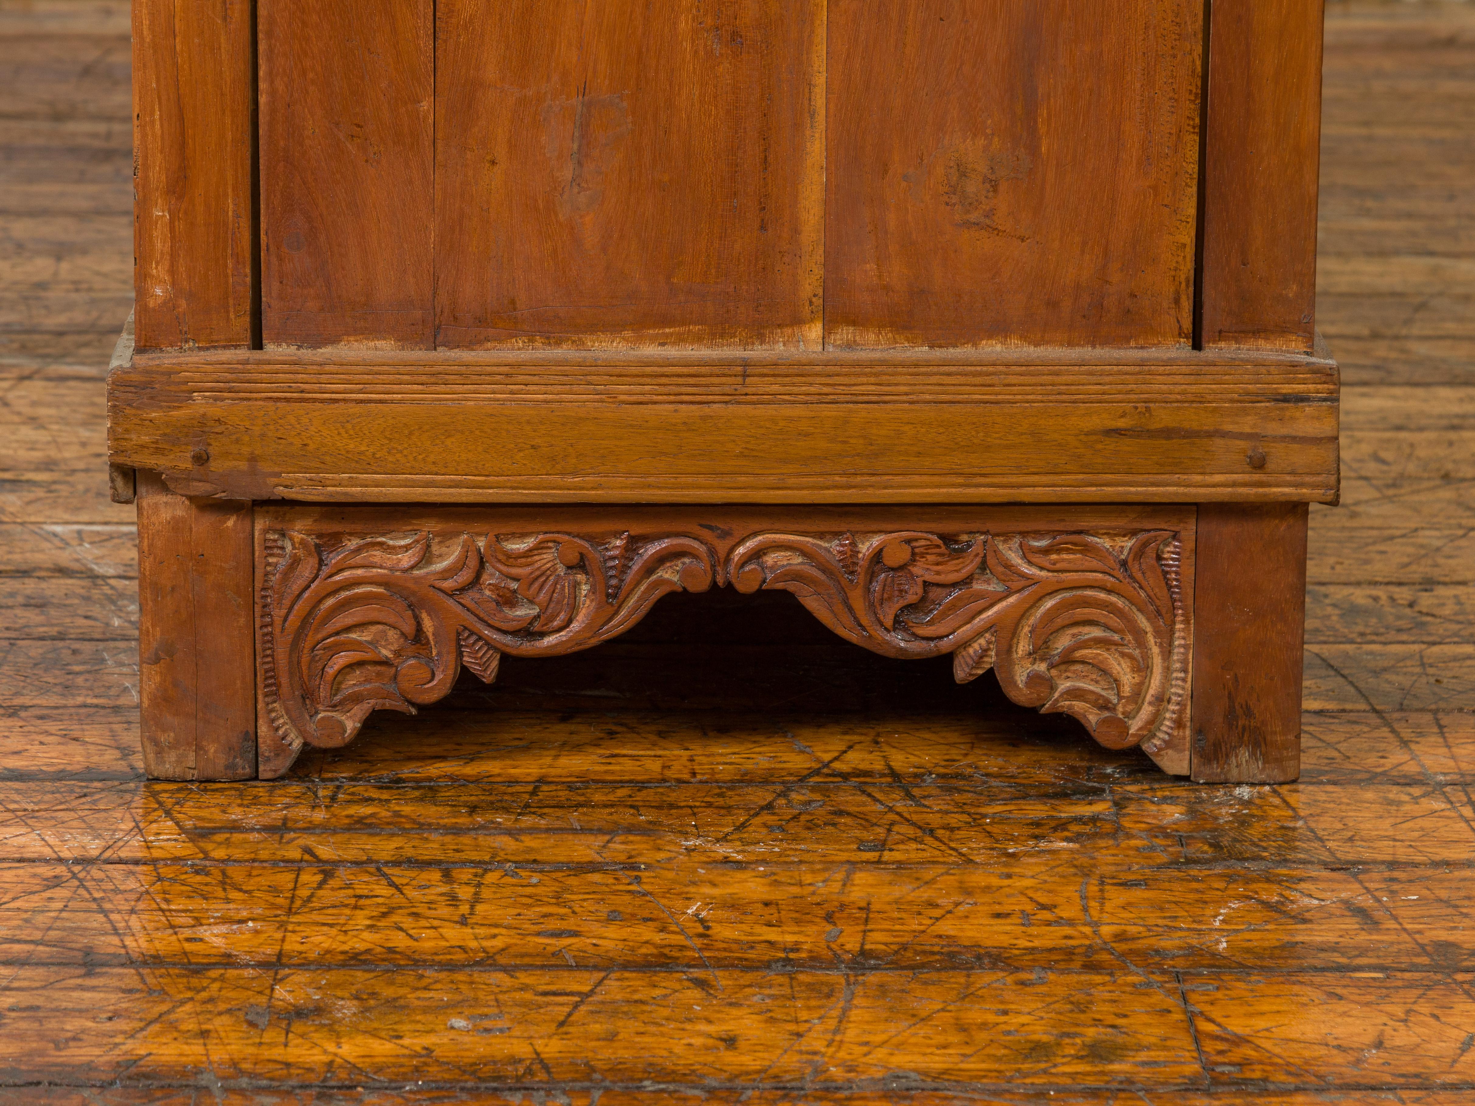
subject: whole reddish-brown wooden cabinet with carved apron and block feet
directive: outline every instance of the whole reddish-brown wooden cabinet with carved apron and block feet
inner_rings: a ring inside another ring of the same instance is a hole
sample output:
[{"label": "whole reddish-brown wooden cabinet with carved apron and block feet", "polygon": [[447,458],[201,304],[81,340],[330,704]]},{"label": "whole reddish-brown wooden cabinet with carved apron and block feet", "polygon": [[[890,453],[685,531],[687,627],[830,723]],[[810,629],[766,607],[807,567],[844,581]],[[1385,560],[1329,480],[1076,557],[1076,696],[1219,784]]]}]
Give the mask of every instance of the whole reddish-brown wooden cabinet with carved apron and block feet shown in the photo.
[{"label": "whole reddish-brown wooden cabinet with carved apron and block feet", "polygon": [[136,0],[150,771],[276,776],[730,584],[1294,777],[1320,19]]}]

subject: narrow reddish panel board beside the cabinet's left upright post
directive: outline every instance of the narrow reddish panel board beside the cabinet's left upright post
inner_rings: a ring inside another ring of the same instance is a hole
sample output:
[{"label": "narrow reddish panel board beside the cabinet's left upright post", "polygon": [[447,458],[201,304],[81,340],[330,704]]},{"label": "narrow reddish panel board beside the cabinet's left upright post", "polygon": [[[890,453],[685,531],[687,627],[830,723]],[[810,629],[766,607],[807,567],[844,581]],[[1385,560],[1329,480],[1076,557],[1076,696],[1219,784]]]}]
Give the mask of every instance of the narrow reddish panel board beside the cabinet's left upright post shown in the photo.
[{"label": "narrow reddish panel board beside the cabinet's left upright post", "polygon": [[432,0],[260,0],[267,348],[431,347]]}]

